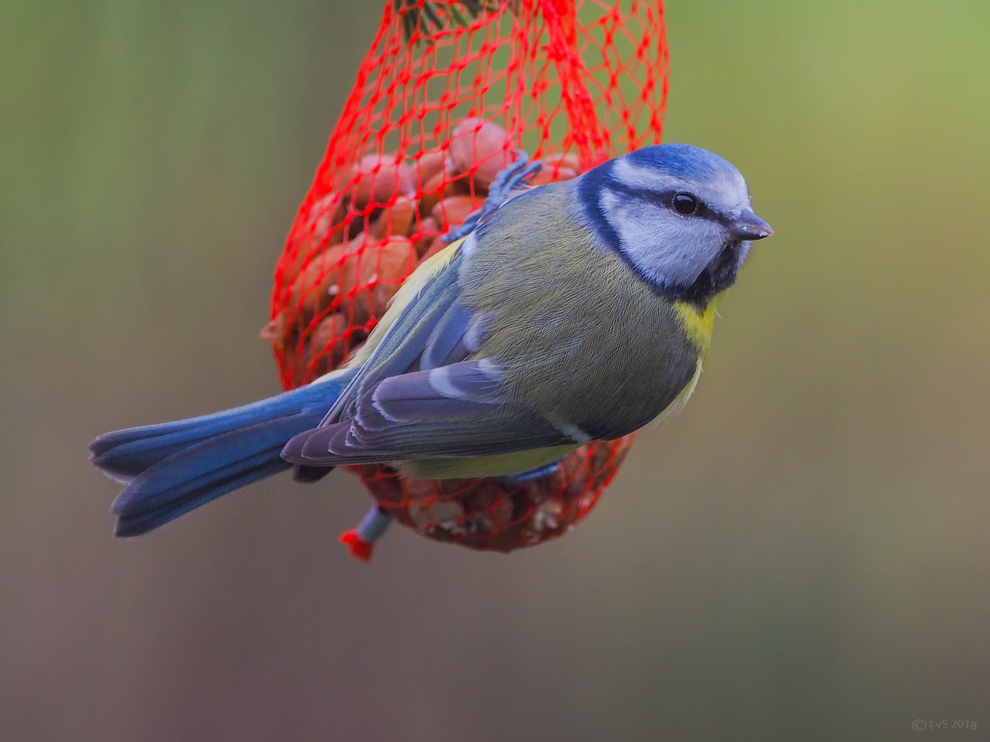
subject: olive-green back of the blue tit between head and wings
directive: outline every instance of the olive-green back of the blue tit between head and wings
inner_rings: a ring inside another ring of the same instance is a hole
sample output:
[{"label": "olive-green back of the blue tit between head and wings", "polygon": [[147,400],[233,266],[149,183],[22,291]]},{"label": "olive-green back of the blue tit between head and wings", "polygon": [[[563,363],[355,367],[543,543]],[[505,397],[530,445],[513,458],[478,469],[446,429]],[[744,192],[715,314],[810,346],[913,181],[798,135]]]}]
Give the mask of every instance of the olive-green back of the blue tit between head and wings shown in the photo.
[{"label": "olive-green back of the blue tit between head and wings", "polygon": [[462,299],[494,319],[478,355],[506,367],[510,397],[614,438],[674,400],[698,353],[670,303],[573,207],[575,182],[520,196],[483,226],[461,269]]}]

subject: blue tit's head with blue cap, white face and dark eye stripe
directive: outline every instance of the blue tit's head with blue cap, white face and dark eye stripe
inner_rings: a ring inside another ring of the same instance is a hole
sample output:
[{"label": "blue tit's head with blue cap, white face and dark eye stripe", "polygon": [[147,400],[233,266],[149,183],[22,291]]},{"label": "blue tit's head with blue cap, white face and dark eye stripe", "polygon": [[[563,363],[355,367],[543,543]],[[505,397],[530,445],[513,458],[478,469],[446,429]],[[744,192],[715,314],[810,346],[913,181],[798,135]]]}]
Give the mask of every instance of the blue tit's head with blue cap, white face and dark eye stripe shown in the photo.
[{"label": "blue tit's head with blue cap, white face and dark eye stripe", "polygon": [[658,293],[699,306],[736,281],[749,245],[773,233],[740,171],[687,144],[658,144],[575,183],[592,229]]}]

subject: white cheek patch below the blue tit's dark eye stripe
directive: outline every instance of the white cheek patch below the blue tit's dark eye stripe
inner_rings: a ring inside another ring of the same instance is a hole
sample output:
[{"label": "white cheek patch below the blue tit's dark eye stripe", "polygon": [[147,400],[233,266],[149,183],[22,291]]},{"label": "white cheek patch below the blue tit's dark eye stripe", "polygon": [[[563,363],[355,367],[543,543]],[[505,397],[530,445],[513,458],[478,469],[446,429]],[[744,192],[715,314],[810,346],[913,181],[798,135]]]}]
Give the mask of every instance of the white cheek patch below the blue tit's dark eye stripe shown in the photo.
[{"label": "white cheek patch below the blue tit's dark eye stripe", "polygon": [[725,245],[722,228],[708,220],[685,219],[608,189],[599,204],[623,254],[659,285],[691,285]]}]

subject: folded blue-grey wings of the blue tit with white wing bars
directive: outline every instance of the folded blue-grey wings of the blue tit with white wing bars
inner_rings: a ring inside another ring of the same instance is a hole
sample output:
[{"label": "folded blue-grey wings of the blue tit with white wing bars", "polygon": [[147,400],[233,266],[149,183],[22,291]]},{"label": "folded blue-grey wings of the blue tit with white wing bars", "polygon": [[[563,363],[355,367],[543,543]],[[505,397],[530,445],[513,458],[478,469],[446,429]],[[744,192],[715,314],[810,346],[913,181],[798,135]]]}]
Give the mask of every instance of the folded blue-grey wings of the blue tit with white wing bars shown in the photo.
[{"label": "folded blue-grey wings of the blue tit with white wing bars", "polygon": [[514,405],[503,369],[472,357],[491,320],[460,301],[459,247],[452,243],[407,281],[337,405],[319,427],[290,440],[283,458],[337,466],[585,442]]}]

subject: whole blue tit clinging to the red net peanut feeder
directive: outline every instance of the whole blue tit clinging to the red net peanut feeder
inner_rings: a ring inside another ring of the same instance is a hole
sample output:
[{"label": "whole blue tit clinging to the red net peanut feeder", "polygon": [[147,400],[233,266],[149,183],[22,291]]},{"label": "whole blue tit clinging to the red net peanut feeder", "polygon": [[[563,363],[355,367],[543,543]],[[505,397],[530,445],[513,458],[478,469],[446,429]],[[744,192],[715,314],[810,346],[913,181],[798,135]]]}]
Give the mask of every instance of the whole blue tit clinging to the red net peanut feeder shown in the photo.
[{"label": "whole blue tit clinging to the red net peanut feeder", "polygon": [[648,146],[523,192],[425,261],[347,366],[207,417],[90,444],[144,533],[289,467],[388,463],[418,478],[539,470],[686,401],[715,308],[772,233],[740,172]]}]

